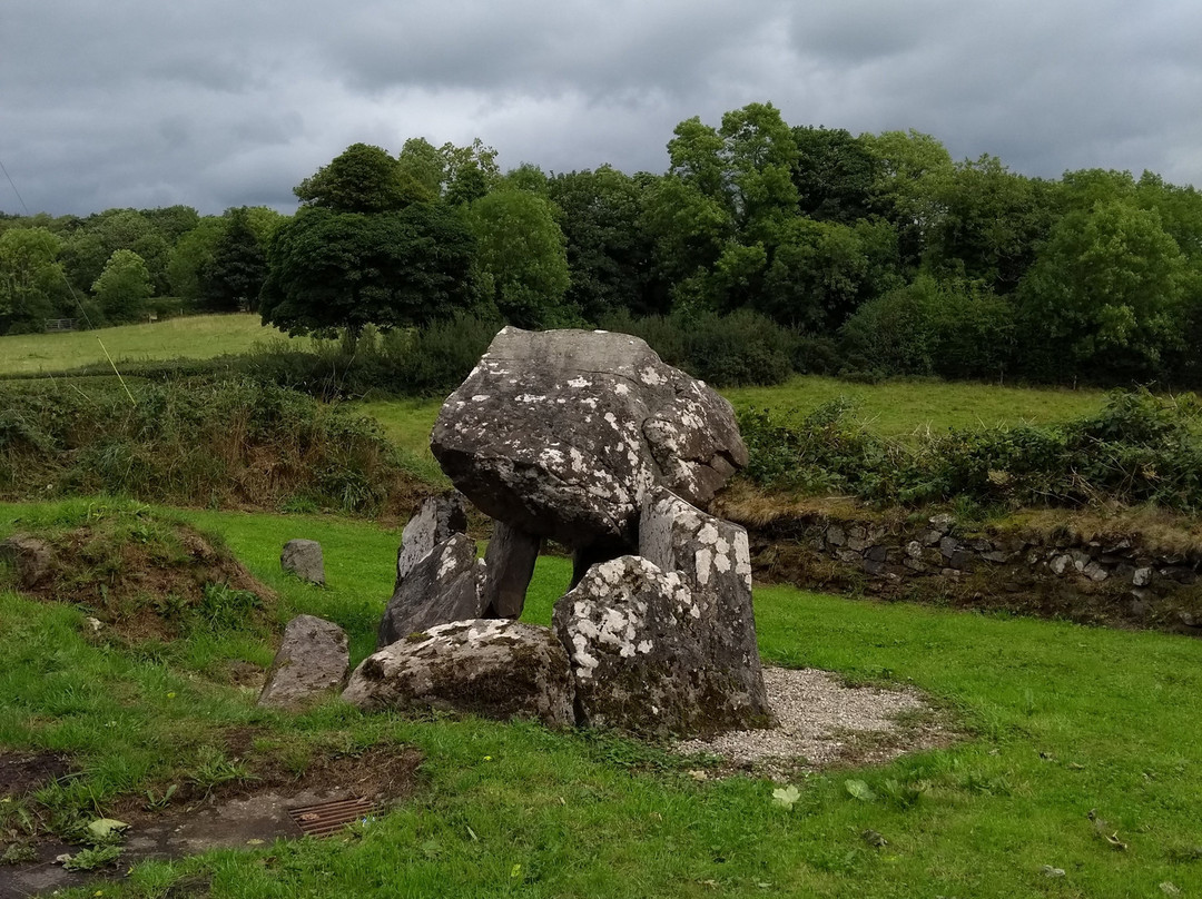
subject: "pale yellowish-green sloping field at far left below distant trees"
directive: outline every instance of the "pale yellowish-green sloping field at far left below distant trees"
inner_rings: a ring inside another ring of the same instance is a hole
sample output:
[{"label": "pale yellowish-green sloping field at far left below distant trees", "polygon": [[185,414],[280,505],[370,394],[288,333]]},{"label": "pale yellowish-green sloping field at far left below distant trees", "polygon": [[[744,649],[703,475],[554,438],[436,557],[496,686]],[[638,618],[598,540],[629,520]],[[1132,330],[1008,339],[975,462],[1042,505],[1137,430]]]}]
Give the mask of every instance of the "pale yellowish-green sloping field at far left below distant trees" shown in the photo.
[{"label": "pale yellowish-green sloping field at far left below distant trees", "polygon": [[65,371],[106,362],[105,350],[118,368],[121,362],[208,359],[245,352],[256,341],[284,337],[264,327],[254,314],[197,315],[64,334],[13,334],[0,337],[0,374]]}]

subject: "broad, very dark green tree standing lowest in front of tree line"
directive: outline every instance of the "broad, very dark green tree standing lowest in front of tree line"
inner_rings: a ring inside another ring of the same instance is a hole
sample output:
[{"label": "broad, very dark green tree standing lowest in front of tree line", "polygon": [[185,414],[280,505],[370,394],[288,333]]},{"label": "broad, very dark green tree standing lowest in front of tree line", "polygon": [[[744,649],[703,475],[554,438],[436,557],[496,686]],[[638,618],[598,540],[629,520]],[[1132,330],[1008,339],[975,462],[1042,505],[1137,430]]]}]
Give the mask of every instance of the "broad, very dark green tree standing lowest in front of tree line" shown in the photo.
[{"label": "broad, very dark green tree standing lowest in front of tree line", "polygon": [[424,325],[470,305],[474,254],[468,227],[441,204],[302,209],[272,238],[260,312],[291,334]]}]

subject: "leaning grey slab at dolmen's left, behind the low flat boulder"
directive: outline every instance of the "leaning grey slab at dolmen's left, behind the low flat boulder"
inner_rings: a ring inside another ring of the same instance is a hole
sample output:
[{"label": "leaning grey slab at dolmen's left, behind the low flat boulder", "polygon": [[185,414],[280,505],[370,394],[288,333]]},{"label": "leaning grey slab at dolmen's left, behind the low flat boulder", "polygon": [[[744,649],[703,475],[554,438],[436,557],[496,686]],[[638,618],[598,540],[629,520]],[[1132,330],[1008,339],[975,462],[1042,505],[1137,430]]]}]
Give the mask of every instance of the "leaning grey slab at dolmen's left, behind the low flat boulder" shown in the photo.
[{"label": "leaning grey slab at dolmen's left, behind the low flat boulder", "polygon": [[486,568],[464,534],[434,547],[405,574],[388,600],[376,645],[387,647],[440,624],[481,618]]}]

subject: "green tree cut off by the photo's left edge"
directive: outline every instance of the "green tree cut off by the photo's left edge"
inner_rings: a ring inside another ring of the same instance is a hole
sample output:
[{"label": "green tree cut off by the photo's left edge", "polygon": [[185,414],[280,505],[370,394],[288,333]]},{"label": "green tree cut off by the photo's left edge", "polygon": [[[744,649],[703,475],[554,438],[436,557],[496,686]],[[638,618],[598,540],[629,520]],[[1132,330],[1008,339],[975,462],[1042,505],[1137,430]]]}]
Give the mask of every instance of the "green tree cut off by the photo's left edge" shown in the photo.
[{"label": "green tree cut off by the photo's left edge", "polygon": [[46,228],[0,233],[0,334],[40,331],[63,285],[63,242]]}]

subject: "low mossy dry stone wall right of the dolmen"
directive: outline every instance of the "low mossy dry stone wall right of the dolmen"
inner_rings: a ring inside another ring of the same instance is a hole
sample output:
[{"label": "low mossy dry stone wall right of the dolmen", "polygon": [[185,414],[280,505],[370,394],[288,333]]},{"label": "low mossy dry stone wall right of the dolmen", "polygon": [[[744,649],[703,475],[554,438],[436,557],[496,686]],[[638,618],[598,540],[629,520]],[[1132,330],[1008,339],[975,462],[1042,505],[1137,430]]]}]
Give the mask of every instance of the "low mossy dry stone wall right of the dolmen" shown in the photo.
[{"label": "low mossy dry stone wall right of the dolmen", "polygon": [[1198,544],[1166,550],[1138,532],[1070,526],[968,530],[950,514],[887,522],[804,513],[740,523],[756,577],[766,581],[1202,636]]}]

